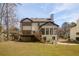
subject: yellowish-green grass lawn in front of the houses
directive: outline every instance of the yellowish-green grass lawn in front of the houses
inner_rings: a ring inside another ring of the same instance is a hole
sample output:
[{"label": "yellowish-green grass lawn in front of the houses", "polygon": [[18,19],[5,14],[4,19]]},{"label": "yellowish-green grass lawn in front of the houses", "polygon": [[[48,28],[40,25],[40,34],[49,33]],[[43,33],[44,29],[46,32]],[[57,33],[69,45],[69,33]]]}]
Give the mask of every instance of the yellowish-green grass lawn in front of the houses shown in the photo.
[{"label": "yellowish-green grass lawn in front of the houses", "polygon": [[79,56],[79,45],[0,42],[0,56]]}]

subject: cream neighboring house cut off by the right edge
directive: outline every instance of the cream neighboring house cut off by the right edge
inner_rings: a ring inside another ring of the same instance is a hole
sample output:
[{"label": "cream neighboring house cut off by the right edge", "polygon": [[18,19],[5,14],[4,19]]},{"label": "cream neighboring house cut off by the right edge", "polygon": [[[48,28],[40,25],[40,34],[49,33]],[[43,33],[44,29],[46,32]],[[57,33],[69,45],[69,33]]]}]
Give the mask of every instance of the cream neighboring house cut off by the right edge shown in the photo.
[{"label": "cream neighboring house cut off by the right edge", "polygon": [[70,40],[79,41],[79,20],[77,20],[76,26],[70,29]]}]

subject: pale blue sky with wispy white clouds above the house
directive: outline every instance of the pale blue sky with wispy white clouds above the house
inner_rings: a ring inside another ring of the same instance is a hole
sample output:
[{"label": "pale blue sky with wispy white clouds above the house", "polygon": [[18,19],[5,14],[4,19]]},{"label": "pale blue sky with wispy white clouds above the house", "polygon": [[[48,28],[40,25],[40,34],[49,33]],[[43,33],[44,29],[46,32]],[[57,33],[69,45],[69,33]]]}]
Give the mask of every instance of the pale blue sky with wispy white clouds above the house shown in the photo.
[{"label": "pale blue sky with wispy white clouds above the house", "polygon": [[17,6],[17,18],[49,18],[54,14],[54,22],[76,22],[79,18],[79,3],[23,3]]}]

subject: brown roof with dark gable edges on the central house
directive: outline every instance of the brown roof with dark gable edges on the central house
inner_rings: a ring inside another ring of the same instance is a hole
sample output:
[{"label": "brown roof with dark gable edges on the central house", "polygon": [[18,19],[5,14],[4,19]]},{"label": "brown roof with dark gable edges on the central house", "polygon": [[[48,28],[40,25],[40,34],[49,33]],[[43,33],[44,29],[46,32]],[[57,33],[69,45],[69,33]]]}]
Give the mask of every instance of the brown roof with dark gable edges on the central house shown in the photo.
[{"label": "brown roof with dark gable edges on the central house", "polygon": [[44,24],[42,24],[40,26],[46,25],[47,23],[52,23],[53,25],[56,25],[57,27],[59,27],[59,25],[57,25],[53,21],[51,21],[51,18],[24,18],[21,20],[21,23],[25,20],[29,20],[31,22],[44,22]]}]

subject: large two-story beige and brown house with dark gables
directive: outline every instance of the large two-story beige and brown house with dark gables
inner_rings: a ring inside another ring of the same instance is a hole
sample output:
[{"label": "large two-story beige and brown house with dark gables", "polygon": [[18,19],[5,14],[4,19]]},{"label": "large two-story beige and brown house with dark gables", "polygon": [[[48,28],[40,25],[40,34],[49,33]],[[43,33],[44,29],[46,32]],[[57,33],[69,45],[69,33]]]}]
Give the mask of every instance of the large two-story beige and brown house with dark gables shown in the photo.
[{"label": "large two-story beige and brown house with dark gables", "polygon": [[57,40],[58,25],[51,18],[24,18],[20,26],[21,40],[49,43]]}]

